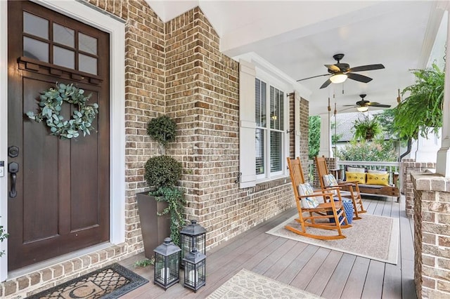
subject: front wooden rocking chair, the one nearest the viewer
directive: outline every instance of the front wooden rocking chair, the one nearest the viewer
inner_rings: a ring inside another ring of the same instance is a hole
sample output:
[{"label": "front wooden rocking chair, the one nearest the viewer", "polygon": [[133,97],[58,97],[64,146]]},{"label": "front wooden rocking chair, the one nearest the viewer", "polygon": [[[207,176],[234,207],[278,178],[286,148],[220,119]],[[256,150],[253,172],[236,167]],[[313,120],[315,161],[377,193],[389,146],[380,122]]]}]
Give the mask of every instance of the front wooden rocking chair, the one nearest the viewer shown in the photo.
[{"label": "front wooden rocking chair, the one nearest the viewer", "polygon": [[[310,237],[314,239],[344,239],[345,236],[342,234],[342,229],[347,227],[352,227],[347,222],[345,217],[344,205],[342,204],[342,199],[340,197],[339,188],[337,190],[337,195],[333,199],[333,190],[319,190],[309,195],[300,195],[299,185],[304,184],[304,175],[302,171],[302,164],[300,163],[300,158],[290,159],[288,158],[288,168],[290,173],[290,180],[293,184],[293,192],[295,195],[295,202],[297,204],[297,211],[299,218],[295,220],[300,223],[301,230],[290,225],[286,225],[285,228],[296,234],[300,234],[305,237]],[[319,204],[315,208],[305,208],[302,206],[302,199],[307,197],[316,197],[323,199],[323,203]],[[334,220],[330,222],[328,220]],[[338,234],[333,235],[319,235],[311,234],[307,232],[307,227],[316,227],[325,230],[337,230]]]}]

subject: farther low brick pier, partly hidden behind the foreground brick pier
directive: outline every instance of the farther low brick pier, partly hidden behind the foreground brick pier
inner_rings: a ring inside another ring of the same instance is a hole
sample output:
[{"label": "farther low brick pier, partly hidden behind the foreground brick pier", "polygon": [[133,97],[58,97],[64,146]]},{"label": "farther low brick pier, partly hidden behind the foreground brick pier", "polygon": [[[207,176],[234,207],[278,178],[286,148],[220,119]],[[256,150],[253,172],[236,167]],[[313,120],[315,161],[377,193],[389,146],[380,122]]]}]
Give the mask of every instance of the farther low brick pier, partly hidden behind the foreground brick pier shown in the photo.
[{"label": "farther low brick pier, partly hidden behind the foreground brick pier", "polygon": [[435,163],[416,162],[416,159],[402,159],[400,164],[401,192],[405,195],[406,216],[414,215],[414,191],[411,173],[424,172],[428,168],[435,168]]}]

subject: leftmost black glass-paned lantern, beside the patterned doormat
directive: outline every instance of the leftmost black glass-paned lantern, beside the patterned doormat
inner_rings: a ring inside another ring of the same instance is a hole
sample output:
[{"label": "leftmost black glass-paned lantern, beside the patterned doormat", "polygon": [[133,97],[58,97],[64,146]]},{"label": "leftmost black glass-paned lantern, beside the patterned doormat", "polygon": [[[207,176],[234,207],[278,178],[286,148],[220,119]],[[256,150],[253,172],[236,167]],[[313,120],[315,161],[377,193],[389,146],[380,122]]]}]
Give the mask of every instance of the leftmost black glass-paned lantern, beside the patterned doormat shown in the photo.
[{"label": "leftmost black glass-paned lantern, beside the patterned doormat", "polygon": [[165,238],[164,243],[155,248],[155,284],[165,290],[180,281],[180,253],[172,239]]}]

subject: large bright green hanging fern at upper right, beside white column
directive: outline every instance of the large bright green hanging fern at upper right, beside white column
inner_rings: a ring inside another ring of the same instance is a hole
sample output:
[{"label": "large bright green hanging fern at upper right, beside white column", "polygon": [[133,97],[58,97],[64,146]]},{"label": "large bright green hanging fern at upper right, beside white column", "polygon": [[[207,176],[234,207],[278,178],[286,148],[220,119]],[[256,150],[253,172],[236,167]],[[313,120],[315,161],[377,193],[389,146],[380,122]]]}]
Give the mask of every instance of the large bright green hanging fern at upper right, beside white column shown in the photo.
[{"label": "large bright green hanging fern at upper right, beside white column", "polygon": [[428,69],[414,69],[416,83],[401,94],[409,95],[394,108],[394,128],[401,139],[427,137],[430,129],[437,133],[442,127],[444,71],[433,64]]}]

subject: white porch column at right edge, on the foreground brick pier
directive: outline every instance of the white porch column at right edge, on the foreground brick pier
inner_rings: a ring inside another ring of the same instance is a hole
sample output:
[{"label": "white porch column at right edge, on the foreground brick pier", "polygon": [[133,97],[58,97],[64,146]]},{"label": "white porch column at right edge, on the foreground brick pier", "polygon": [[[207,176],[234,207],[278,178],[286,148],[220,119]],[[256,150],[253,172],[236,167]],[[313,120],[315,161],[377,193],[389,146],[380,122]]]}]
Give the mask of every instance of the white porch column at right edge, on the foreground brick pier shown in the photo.
[{"label": "white porch column at right edge, on the foreground brick pier", "polygon": [[[449,12],[449,4],[446,6]],[[447,20],[447,40],[450,45],[450,21]],[[445,67],[444,100],[442,107],[442,144],[437,151],[436,173],[450,178],[450,67],[448,59]]]}]

